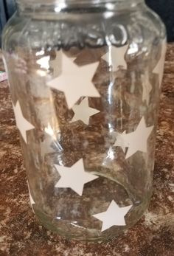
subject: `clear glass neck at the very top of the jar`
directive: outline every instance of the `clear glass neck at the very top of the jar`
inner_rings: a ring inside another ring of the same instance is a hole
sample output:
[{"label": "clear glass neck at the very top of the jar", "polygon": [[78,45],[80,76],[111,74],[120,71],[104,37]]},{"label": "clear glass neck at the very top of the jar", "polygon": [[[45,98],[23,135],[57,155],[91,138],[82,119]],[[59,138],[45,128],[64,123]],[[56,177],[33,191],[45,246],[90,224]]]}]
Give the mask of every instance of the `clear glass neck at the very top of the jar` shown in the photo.
[{"label": "clear glass neck at the very top of the jar", "polygon": [[105,10],[122,10],[143,4],[145,0],[16,0],[19,12],[55,11],[56,13],[67,9],[97,8]]}]

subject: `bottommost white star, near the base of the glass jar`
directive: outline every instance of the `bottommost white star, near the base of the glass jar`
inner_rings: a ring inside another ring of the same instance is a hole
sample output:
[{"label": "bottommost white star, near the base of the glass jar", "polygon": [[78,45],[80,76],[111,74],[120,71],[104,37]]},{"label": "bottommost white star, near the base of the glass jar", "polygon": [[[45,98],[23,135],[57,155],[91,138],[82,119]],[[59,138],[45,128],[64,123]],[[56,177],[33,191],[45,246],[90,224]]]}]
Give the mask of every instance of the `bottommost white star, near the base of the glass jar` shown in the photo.
[{"label": "bottommost white star, near the base of the glass jar", "polygon": [[95,214],[93,217],[102,221],[102,232],[109,229],[111,226],[126,226],[125,215],[127,215],[131,207],[132,205],[119,207],[113,200],[106,212]]}]

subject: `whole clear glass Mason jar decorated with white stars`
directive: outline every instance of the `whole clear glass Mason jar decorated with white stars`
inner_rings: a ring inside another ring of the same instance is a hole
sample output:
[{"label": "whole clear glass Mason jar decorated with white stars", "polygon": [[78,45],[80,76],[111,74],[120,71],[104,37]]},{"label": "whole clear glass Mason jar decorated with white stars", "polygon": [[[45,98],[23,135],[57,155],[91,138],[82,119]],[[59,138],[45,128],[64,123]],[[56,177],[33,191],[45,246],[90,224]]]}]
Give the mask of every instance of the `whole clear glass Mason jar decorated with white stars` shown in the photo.
[{"label": "whole clear glass Mason jar decorated with white stars", "polygon": [[120,235],[152,192],[164,25],[143,0],[17,7],[3,52],[35,215],[66,238]]}]

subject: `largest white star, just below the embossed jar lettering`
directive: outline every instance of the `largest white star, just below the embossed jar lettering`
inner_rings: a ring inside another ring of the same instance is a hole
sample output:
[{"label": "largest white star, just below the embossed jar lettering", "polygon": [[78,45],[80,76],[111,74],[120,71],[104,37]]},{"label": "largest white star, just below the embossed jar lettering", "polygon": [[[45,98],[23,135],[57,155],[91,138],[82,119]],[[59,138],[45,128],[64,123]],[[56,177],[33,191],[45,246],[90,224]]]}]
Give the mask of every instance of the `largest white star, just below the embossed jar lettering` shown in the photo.
[{"label": "largest white star, just below the embossed jar lettering", "polygon": [[52,89],[64,92],[66,103],[70,109],[80,97],[100,97],[99,92],[91,82],[97,66],[98,62],[86,66],[77,66],[63,54],[61,75],[49,81],[47,85]]}]

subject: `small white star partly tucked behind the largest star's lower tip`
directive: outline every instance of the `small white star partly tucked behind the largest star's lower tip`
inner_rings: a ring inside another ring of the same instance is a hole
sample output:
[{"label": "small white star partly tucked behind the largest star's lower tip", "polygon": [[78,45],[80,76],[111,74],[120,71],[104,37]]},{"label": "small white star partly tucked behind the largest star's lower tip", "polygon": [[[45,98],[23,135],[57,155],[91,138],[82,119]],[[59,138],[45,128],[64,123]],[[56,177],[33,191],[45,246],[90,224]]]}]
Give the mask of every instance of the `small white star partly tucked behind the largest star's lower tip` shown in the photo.
[{"label": "small white star partly tucked behind the largest star's lower tip", "polygon": [[85,98],[80,105],[74,105],[72,108],[74,111],[74,117],[72,119],[72,122],[76,122],[78,120],[82,120],[86,125],[89,123],[89,117],[94,116],[94,114],[100,113],[95,108],[90,108],[88,106],[88,98]]}]

